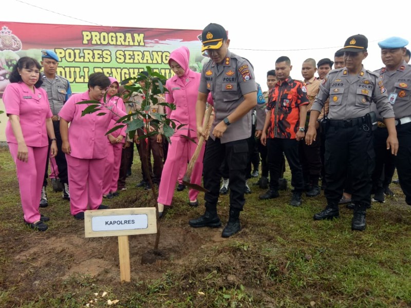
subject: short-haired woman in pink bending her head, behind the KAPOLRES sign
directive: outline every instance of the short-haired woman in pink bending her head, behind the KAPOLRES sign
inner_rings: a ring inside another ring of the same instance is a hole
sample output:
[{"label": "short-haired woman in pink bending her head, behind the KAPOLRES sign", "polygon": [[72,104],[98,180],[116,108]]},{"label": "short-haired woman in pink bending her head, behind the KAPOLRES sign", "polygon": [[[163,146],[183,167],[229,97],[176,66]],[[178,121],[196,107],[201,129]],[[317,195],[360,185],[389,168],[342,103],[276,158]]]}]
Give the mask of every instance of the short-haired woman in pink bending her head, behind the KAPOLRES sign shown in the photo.
[{"label": "short-haired woman in pink bending her head, behind the KAPOLRES sign", "polygon": [[[116,105],[113,105],[111,110],[106,108],[103,97],[110,84],[110,80],[103,73],[90,74],[88,90],[71,95],[59,112],[62,150],[66,153],[70,182],[70,211],[76,219],[84,219],[87,205],[90,209],[108,208],[101,204],[107,157],[105,133],[111,120],[117,121],[126,115]],[[77,103],[89,100],[99,101],[101,110],[82,117],[81,112],[89,104]],[[98,115],[101,113],[106,114]]]}]

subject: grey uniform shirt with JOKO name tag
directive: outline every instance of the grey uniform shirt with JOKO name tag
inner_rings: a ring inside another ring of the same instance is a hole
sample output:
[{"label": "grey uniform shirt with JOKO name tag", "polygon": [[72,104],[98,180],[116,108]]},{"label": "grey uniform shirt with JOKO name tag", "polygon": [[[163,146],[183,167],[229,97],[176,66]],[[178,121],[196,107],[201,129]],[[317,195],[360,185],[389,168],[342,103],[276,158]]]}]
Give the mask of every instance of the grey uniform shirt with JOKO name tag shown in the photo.
[{"label": "grey uniform shirt with JOKO name tag", "polygon": [[375,103],[384,118],[394,118],[394,111],[388,103],[388,96],[379,74],[364,69],[358,75],[349,75],[344,67],[328,73],[320,86],[311,110],[321,112],[324,102],[329,100],[328,119],[350,120],[363,117]]}]

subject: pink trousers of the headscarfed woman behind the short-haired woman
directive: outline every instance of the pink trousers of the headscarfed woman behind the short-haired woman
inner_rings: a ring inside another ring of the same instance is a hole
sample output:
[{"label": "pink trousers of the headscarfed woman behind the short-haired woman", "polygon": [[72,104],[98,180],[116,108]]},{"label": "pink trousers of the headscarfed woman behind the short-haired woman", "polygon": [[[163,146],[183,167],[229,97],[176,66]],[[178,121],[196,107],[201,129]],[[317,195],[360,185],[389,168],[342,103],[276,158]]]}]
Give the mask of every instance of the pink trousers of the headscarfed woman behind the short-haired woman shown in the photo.
[{"label": "pink trousers of the headscarfed woman behind the short-haired woman", "polygon": [[123,145],[124,143],[110,143],[107,146],[107,159],[105,161],[103,178],[103,195],[117,191]]}]

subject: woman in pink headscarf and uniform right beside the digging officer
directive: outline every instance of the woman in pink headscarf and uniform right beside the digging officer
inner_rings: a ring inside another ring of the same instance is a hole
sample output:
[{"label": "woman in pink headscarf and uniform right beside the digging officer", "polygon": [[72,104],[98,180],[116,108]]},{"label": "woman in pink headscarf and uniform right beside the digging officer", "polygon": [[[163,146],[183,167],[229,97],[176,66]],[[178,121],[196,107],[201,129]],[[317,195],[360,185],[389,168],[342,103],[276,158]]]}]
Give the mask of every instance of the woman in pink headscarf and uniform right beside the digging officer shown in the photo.
[{"label": "woman in pink headscarf and uniform right beside the digging officer", "polygon": [[[183,167],[182,163],[186,164],[187,158],[191,159],[197,147],[196,102],[200,73],[192,71],[189,63],[190,51],[187,47],[183,46],[171,52],[169,65],[175,75],[165,83],[165,87],[169,90],[165,94],[165,101],[176,105],[176,109],[169,115],[170,119],[186,125],[175,131],[170,138],[171,144],[169,145],[158,191],[157,202],[160,217],[164,205],[171,205],[178,172]],[[196,143],[183,136],[194,139]],[[191,176],[192,183],[198,185],[201,185],[203,156],[204,146],[200,151]],[[198,206],[197,195],[198,190],[189,190],[189,204],[191,206]]]}]

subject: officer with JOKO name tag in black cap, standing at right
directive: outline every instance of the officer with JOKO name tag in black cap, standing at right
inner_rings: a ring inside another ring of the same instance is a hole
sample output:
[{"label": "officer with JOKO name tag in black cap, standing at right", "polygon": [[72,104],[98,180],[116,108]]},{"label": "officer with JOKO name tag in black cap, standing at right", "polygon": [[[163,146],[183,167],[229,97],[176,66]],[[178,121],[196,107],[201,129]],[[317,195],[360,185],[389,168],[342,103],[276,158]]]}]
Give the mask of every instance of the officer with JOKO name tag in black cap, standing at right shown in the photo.
[{"label": "officer with JOKO name tag in black cap, standing at right", "polygon": [[[352,175],[352,202],[354,214],[352,230],[364,230],[366,208],[370,206],[371,174],[374,167],[372,145],[371,104],[387,126],[387,148],[394,155],[398,151],[393,107],[380,75],[364,69],[368,40],[364,35],[352,35],[344,44],[345,67],[331,71],[320,86],[320,92],[311,108],[306,143],[316,138],[315,121],[325,100],[330,97],[328,120],[325,120],[325,176],[327,206],[314,215],[315,220],[338,218],[338,203],[343,195],[348,172]],[[352,172],[353,171],[353,172]]]}]

